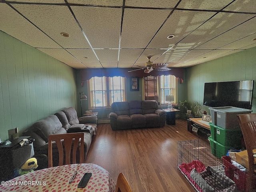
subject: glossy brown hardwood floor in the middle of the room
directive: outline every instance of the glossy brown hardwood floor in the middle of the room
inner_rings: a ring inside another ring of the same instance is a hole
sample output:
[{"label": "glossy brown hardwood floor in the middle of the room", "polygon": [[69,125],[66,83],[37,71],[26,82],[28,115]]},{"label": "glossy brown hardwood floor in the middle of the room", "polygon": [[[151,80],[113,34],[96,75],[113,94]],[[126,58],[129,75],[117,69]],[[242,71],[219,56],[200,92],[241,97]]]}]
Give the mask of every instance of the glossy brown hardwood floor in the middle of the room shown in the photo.
[{"label": "glossy brown hardwood floor in the middle of the room", "polygon": [[186,120],[164,128],[117,131],[98,124],[85,163],[102,166],[115,181],[122,172],[134,192],[194,192],[177,169],[177,142],[194,139],[200,138],[188,132]]}]

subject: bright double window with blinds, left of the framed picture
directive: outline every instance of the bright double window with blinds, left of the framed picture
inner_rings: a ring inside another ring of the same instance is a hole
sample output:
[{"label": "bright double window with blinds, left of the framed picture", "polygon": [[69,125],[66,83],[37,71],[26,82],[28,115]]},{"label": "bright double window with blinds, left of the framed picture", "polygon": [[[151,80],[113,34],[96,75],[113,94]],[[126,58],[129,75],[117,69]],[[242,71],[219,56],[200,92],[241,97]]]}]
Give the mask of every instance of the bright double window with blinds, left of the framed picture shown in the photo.
[{"label": "bright double window with blinds, left of the framed picture", "polygon": [[89,81],[90,108],[110,107],[113,102],[125,101],[124,77],[92,77]]}]

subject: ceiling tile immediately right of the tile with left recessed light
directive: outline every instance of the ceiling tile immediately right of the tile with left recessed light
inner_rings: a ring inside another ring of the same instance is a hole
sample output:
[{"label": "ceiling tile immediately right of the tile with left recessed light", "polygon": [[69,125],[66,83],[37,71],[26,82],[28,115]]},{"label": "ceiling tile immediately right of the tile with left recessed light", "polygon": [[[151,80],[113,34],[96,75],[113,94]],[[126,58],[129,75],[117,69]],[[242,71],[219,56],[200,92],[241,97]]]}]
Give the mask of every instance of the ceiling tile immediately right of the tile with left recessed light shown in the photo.
[{"label": "ceiling tile immediately right of the tile with left recessed light", "polygon": [[118,48],[121,8],[71,8],[93,48]]}]

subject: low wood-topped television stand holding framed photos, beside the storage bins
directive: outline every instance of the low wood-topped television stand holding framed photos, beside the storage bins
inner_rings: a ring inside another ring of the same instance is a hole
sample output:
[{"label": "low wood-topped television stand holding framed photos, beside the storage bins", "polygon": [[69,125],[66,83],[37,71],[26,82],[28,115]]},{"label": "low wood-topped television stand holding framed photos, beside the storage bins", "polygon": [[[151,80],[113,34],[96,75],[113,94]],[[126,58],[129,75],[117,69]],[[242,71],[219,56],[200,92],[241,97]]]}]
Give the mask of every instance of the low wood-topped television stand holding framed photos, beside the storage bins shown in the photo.
[{"label": "low wood-topped television stand holding framed photos, beside the storage bins", "polygon": [[210,137],[211,129],[210,125],[200,122],[202,118],[189,118],[188,119],[188,131],[195,132],[200,136]]}]

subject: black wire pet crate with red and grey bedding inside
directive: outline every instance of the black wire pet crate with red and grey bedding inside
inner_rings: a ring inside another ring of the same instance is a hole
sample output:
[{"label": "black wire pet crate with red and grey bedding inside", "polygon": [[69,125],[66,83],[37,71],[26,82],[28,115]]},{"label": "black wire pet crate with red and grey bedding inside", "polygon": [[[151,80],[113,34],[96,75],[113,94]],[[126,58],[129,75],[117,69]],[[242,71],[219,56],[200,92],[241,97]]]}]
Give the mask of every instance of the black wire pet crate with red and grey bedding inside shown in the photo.
[{"label": "black wire pet crate with red and grey bedding inside", "polygon": [[222,155],[213,150],[200,140],[177,142],[178,169],[198,192],[239,192],[232,180],[234,169],[224,166],[217,158]]}]

